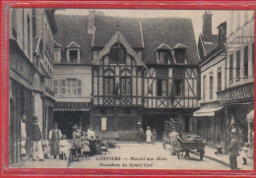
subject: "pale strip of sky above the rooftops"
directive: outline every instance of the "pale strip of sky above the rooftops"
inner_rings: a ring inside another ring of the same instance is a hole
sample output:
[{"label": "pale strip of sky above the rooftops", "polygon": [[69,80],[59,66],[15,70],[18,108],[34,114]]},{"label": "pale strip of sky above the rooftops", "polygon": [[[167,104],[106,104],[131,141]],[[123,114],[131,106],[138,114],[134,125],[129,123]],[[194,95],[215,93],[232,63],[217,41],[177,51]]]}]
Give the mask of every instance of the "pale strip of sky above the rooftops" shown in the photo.
[{"label": "pale strip of sky above the rooftops", "polygon": [[[103,12],[105,16],[114,17],[132,17],[132,18],[147,18],[147,17],[169,17],[169,18],[187,18],[192,19],[193,27],[195,31],[196,41],[198,40],[199,34],[203,30],[203,14],[205,10],[111,10],[111,9],[100,9],[96,10]],[[211,11],[212,17],[212,31],[214,34],[218,33],[217,27],[224,23],[228,18],[230,11]],[[66,9],[58,10],[55,14],[62,15],[80,15],[85,16],[89,14],[88,9]]]}]

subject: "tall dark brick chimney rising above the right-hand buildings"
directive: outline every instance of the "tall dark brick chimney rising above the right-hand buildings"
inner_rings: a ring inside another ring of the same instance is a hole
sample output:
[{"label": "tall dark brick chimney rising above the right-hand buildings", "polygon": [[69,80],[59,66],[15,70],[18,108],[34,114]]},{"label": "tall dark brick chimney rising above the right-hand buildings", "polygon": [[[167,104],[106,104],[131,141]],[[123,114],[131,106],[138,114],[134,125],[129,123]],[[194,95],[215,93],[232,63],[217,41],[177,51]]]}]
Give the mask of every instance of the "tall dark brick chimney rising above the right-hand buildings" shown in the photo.
[{"label": "tall dark brick chimney rising above the right-hand buildings", "polygon": [[207,42],[212,41],[212,16],[211,11],[205,11],[203,15],[203,36]]}]

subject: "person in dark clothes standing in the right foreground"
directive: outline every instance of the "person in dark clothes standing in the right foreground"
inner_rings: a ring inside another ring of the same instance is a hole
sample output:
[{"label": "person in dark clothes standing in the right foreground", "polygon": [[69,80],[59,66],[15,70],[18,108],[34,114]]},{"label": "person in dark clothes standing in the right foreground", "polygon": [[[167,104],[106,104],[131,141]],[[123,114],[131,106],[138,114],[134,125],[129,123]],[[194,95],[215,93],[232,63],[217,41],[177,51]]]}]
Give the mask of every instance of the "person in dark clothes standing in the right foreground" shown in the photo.
[{"label": "person in dark clothes standing in the right foreground", "polygon": [[239,146],[239,142],[237,140],[236,129],[232,129],[231,130],[231,141],[230,141],[230,144],[227,148],[228,155],[229,155],[230,168],[232,170],[237,169],[236,157],[239,155],[238,146]]}]

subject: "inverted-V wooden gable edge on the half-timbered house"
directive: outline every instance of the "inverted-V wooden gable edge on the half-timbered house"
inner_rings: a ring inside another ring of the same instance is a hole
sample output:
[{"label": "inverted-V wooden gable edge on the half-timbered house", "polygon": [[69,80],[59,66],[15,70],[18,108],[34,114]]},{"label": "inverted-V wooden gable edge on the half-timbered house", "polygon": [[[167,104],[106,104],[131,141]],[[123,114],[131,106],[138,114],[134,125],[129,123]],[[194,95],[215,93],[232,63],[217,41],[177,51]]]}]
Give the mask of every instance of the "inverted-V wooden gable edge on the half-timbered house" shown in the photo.
[{"label": "inverted-V wooden gable edge on the half-timbered house", "polygon": [[99,64],[101,58],[107,53],[109,53],[111,46],[114,45],[116,42],[120,42],[125,47],[127,54],[130,54],[131,56],[134,57],[137,65],[144,66],[146,68],[146,65],[143,63],[142,59],[136,54],[132,46],[126,41],[122,33],[119,31],[117,31],[111,37],[111,39],[105,44],[104,48],[97,55],[96,60],[94,61],[95,65]]}]

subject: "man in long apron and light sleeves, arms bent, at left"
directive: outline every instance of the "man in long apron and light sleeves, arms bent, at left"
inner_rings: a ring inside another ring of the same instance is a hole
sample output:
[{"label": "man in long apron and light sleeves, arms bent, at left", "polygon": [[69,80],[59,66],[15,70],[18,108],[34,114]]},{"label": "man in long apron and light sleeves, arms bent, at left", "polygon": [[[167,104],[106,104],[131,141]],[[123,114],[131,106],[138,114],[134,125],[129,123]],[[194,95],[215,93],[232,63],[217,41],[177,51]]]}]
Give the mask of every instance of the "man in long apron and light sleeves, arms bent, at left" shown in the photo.
[{"label": "man in long apron and light sleeves, arms bent, at left", "polygon": [[58,129],[58,124],[53,124],[53,129],[49,132],[50,142],[50,154],[53,155],[54,159],[59,155],[59,141],[62,138],[62,133]]}]

